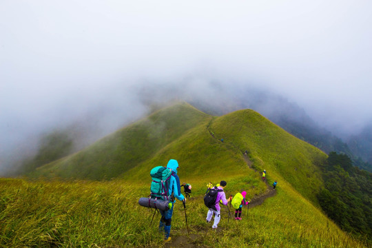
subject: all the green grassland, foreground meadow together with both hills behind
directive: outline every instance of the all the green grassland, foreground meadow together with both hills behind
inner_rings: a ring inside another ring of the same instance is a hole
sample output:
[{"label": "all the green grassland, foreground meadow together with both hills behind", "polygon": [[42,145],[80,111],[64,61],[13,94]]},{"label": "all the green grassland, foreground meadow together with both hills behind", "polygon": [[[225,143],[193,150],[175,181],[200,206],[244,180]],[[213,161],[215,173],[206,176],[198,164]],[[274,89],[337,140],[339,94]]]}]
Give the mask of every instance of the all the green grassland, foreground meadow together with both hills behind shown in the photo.
[{"label": "all the green grassland, foreground meadow together with both hills behind", "polygon": [[[209,134],[214,132],[214,136]],[[224,138],[224,142],[220,141]],[[249,151],[255,172],[242,152]],[[316,166],[327,157],[251,110],[213,117],[187,104],[161,110],[87,149],[41,167],[33,176],[114,180],[0,179],[0,247],[163,247],[152,211],[138,205],[149,194],[149,169],[177,159],[181,183],[192,183],[187,219],[196,246],[364,247],[340,231],[317,205],[322,180]],[[278,194],[243,210],[217,235],[205,223],[205,185],[227,180],[226,194],[247,198],[278,180]],[[171,236],[185,235],[185,213],[176,203]]]}]

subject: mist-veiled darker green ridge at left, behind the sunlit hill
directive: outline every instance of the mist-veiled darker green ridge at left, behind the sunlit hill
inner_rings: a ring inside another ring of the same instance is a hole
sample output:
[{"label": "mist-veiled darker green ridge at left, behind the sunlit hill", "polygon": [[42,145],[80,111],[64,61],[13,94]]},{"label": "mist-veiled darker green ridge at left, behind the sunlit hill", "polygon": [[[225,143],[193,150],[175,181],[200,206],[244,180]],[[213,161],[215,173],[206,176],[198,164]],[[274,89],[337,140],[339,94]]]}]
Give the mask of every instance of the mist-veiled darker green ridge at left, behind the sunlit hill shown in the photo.
[{"label": "mist-veiled darker green ridge at left, behind the sunlit hill", "polygon": [[115,178],[146,161],[168,143],[210,117],[187,103],[179,103],[124,127],[81,152],[39,167],[32,178]]}]

